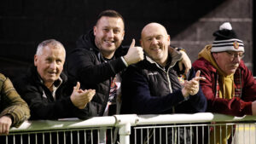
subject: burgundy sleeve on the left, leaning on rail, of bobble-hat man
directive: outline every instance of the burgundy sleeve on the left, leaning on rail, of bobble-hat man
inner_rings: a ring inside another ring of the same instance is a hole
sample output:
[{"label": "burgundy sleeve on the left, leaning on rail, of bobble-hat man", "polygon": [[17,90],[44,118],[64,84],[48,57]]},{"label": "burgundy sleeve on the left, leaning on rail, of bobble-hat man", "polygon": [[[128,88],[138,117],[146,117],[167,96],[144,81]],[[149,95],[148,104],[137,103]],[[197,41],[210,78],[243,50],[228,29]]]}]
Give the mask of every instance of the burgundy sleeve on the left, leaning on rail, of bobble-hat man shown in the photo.
[{"label": "burgundy sleeve on the left, leaning on rail, of bobble-hat man", "polygon": [[201,77],[206,81],[201,81],[201,89],[207,97],[207,111],[229,114],[241,117],[246,114],[252,114],[252,102],[241,100],[240,97],[233,97],[230,100],[215,97],[215,86],[213,73],[207,70],[207,66],[200,68],[193,65],[195,70],[201,70]]}]

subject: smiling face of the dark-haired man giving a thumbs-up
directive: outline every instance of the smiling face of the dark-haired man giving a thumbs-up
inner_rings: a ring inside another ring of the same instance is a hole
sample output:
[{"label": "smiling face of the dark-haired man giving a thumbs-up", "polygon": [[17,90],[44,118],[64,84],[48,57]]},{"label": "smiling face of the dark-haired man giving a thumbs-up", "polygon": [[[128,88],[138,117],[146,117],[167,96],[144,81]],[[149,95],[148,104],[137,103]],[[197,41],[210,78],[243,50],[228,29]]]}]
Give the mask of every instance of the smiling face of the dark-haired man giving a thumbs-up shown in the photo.
[{"label": "smiling face of the dark-haired man giving a thumbs-up", "polygon": [[105,58],[112,58],[125,35],[124,22],[121,18],[102,16],[94,26],[96,47]]}]

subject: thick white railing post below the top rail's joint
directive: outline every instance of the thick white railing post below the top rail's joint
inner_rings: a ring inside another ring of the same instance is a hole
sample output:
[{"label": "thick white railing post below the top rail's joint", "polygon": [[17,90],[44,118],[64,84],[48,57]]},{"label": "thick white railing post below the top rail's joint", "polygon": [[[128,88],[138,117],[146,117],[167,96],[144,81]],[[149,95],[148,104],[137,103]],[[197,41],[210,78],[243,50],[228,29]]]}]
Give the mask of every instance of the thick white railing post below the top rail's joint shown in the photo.
[{"label": "thick white railing post below the top rail's joint", "polygon": [[126,123],[119,126],[119,142],[120,144],[130,144],[131,124]]}]

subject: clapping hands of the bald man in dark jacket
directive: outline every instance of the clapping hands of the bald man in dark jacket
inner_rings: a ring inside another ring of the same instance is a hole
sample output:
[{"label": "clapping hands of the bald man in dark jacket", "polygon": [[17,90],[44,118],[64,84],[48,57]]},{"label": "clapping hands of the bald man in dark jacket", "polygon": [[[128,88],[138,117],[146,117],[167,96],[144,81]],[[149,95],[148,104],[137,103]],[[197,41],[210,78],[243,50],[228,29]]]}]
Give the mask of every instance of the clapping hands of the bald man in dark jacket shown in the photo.
[{"label": "clapping hands of the bald man in dark jacket", "polygon": [[183,96],[189,96],[189,95],[196,95],[198,93],[199,90],[199,82],[201,80],[206,80],[206,78],[200,77],[200,71],[197,71],[195,73],[195,78],[191,79],[190,81],[185,81],[185,83],[183,84],[183,89],[182,89],[182,93]]}]

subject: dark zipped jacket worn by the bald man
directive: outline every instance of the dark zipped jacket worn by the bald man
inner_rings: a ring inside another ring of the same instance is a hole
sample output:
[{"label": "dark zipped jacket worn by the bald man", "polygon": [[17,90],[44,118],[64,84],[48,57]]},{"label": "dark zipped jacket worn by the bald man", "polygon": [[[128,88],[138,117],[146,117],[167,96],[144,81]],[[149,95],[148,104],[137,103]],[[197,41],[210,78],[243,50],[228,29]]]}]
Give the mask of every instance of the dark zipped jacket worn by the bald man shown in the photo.
[{"label": "dark zipped jacket worn by the bald man", "polygon": [[[176,59],[176,60],[175,60]],[[121,113],[167,114],[205,112],[206,97],[201,89],[196,95],[185,100],[182,85],[179,83],[177,60],[165,68],[147,57],[125,71],[122,81]],[[169,60],[171,61],[171,60]],[[195,77],[192,68],[186,76],[189,80]]]}]

